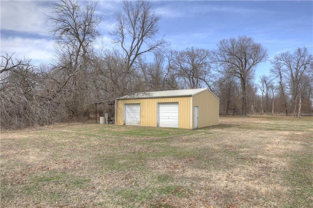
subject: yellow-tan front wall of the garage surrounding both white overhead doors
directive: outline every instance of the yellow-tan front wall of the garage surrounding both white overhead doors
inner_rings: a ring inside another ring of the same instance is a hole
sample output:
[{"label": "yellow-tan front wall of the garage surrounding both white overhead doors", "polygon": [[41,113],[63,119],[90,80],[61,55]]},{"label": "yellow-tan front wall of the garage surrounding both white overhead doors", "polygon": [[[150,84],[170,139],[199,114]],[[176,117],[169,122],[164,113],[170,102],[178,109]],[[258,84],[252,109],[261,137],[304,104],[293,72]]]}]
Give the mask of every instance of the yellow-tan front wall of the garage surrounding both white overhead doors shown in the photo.
[{"label": "yellow-tan front wall of the garage surrounding both white overhead doors", "polygon": [[179,103],[179,128],[192,128],[190,124],[190,97],[173,98],[148,98],[133,100],[117,100],[116,125],[123,125],[124,104],[140,104],[140,125],[156,126],[157,124],[157,104],[158,103]]}]

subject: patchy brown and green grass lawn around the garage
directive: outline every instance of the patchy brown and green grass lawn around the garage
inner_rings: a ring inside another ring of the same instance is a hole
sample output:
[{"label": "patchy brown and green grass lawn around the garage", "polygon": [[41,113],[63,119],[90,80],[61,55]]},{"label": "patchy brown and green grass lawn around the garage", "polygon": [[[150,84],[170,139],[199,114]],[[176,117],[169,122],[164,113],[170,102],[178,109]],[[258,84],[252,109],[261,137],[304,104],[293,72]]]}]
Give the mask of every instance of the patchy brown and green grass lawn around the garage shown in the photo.
[{"label": "patchy brown and green grass lawn around the garage", "polygon": [[313,206],[312,117],[6,131],[0,157],[3,208]]}]

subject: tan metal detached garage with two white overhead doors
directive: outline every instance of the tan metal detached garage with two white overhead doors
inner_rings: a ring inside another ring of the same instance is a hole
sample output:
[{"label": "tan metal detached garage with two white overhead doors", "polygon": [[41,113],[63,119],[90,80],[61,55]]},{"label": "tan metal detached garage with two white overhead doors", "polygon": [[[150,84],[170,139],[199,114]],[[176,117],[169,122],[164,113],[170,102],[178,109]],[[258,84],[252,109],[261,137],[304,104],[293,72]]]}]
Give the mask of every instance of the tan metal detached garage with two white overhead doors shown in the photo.
[{"label": "tan metal detached garage with two white overhead doors", "polygon": [[207,88],[135,93],[116,99],[115,124],[188,129],[219,125],[219,98]]}]

